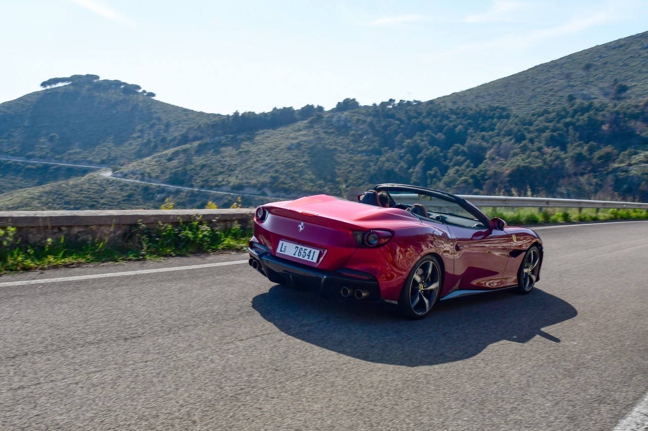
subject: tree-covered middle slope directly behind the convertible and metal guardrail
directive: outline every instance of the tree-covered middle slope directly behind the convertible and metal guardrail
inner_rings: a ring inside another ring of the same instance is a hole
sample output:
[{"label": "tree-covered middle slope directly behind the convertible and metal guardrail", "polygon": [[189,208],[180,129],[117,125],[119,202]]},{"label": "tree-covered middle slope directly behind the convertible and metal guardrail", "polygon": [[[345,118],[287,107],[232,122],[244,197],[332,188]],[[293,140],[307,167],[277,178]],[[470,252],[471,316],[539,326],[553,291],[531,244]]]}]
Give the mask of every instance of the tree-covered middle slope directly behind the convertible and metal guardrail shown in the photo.
[{"label": "tree-covered middle slope directly behind the convertible and metal guardrail", "polygon": [[124,166],[119,175],[244,193],[406,182],[455,193],[648,200],[648,112],[575,102],[531,114],[434,102],[327,113]]}]

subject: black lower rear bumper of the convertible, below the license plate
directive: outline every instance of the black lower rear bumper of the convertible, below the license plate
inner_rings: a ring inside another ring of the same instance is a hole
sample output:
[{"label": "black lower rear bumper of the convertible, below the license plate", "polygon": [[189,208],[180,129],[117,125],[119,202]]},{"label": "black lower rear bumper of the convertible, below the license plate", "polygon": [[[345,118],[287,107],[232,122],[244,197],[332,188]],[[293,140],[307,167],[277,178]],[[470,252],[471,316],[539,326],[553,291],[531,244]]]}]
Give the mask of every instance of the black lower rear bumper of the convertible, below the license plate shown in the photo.
[{"label": "black lower rear bumper of the convertible, below the license plate", "polygon": [[[380,287],[372,274],[342,268],[338,271],[327,271],[301,265],[270,254],[268,249],[258,243],[248,247],[249,265],[266,276],[273,283],[301,287],[328,298],[356,300],[355,291],[367,293],[362,302],[378,302]],[[342,296],[341,290],[346,287],[351,291],[349,296]]]}]

